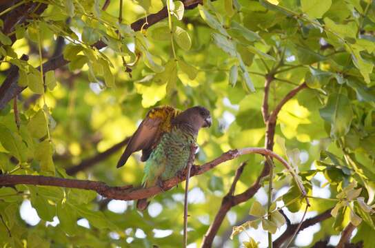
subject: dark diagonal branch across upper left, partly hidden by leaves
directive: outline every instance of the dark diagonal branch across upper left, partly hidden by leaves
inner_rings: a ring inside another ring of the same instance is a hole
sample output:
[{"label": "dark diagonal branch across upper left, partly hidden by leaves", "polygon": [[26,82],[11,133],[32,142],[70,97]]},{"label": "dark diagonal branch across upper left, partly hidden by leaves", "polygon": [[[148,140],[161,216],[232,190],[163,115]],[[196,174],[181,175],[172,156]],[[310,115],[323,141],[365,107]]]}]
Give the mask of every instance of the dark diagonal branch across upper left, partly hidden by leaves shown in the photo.
[{"label": "dark diagonal branch across upper left, partly hidden by leaves", "polygon": [[[185,9],[192,9],[195,8],[199,3],[202,3],[201,0],[187,0],[184,1]],[[134,21],[130,26],[134,31],[139,31],[141,28],[146,29],[149,28],[151,25],[154,25],[155,23],[165,19],[168,17],[168,11],[167,8],[164,7],[156,14],[150,14],[147,17],[147,23],[146,19],[142,18],[138,21]],[[146,24],[145,24],[146,23]],[[101,48],[105,48],[106,44],[103,43],[103,41],[99,41],[94,44],[94,47],[100,50]],[[70,61],[67,61],[63,58],[63,55],[56,56],[45,63],[43,63],[43,73],[48,72],[50,70],[56,70],[57,68],[61,68],[64,65],[67,65]],[[38,68],[39,70],[39,68]],[[18,70],[16,73],[8,74],[6,79],[3,82],[3,85],[7,83],[7,90],[1,92],[0,91],[0,110],[3,109],[3,107],[6,106],[6,104],[13,99],[13,97],[19,93],[21,93],[23,90],[26,89],[26,87],[20,87],[17,85],[17,81],[19,79],[19,73]],[[3,86],[1,85],[1,86]]]}]

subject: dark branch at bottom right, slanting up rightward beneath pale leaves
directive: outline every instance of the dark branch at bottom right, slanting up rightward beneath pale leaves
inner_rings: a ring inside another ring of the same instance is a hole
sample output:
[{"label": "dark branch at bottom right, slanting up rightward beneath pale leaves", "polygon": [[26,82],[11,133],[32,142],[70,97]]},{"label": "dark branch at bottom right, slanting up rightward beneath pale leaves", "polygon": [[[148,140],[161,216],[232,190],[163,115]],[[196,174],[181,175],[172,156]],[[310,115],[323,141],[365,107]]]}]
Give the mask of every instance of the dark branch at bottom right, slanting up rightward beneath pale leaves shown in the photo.
[{"label": "dark branch at bottom right, slanting up rightward beneath pale leaves", "polygon": [[[302,225],[301,225],[301,227],[298,231],[302,231],[303,229],[305,229],[307,227],[311,227],[312,225],[315,225],[316,223],[320,223],[323,220],[327,220],[327,218],[331,217],[331,210],[332,209],[328,209],[328,210],[324,211],[323,213],[318,214],[315,217],[312,217],[312,218],[309,218],[309,219],[303,221],[303,223],[302,223]],[[298,225],[299,225],[299,223],[289,225],[287,227],[287,229],[284,231],[284,233],[280,237],[278,237],[276,240],[274,240],[274,242],[273,242],[274,247],[276,247],[276,248],[281,247],[283,245],[283,243],[287,242],[287,240],[289,240],[289,238],[293,236],[294,231],[296,231],[296,229],[298,228]]]}]

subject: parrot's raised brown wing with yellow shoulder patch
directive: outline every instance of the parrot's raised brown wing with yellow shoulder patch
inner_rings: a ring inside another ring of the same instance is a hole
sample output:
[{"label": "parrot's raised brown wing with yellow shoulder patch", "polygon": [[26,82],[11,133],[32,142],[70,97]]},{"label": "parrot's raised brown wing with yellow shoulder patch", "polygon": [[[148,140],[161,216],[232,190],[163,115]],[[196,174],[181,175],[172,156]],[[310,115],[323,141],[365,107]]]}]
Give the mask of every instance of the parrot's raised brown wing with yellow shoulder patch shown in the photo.
[{"label": "parrot's raised brown wing with yellow shoulder patch", "polygon": [[117,168],[125,165],[129,156],[139,150],[142,150],[141,161],[146,161],[154,145],[158,143],[161,134],[170,130],[172,118],[178,113],[179,111],[169,106],[155,107],[150,110],[132,138],[130,138],[125,152],[123,152],[117,163]]}]

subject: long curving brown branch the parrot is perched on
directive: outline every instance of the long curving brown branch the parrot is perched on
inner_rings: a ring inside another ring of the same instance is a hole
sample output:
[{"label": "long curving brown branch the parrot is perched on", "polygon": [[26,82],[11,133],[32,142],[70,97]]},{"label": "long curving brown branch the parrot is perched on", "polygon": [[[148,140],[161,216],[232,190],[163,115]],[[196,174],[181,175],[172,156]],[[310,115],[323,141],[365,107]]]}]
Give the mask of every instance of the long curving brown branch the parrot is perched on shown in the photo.
[{"label": "long curving brown branch the parrot is perched on", "polygon": [[[203,174],[210,169],[220,165],[225,161],[230,161],[234,158],[245,154],[263,154],[267,156],[272,156],[276,160],[280,161],[285,165],[286,161],[275,154],[274,152],[259,147],[247,147],[243,149],[234,149],[228,152],[225,152],[218,158],[215,158],[213,161],[205,163],[201,166],[192,166],[192,176]],[[287,163],[286,163],[287,164]],[[287,165],[290,166],[290,165]],[[0,185],[47,185],[47,186],[56,186],[56,187],[68,187],[75,189],[89,189],[94,190],[98,194],[106,198],[112,198],[116,200],[137,200],[141,198],[149,198],[160,192],[164,192],[186,178],[186,170],[183,172],[182,176],[175,176],[169,180],[163,182],[163,188],[159,186],[149,187],[149,188],[140,188],[132,187],[132,185],[125,185],[123,187],[110,187],[103,182],[92,181],[92,180],[77,180],[77,179],[67,179],[67,178],[56,178],[52,176],[30,176],[30,175],[0,175]],[[260,187],[260,186],[259,186]],[[241,196],[241,194],[239,195]],[[243,198],[239,197],[238,200]]]}]

